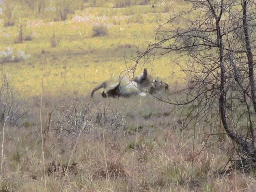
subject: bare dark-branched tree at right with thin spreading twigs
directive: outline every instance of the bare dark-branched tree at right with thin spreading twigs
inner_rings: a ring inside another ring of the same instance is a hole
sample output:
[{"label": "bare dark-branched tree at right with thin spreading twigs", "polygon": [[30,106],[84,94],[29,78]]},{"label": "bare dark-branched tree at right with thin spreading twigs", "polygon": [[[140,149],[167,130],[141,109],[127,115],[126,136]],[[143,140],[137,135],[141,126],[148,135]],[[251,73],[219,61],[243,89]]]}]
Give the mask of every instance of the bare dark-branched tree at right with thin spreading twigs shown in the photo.
[{"label": "bare dark-branched tree at right with thin spreading twigs", "polygon": [[[140,52],[136,63],[142,58],[154,61],[157,56],[178,52],[179,59],[174,62],[186,63],[178,65],[186,74],[189,86],[180,90],[186,95],[183,101],[164,102],[190,105],[186,120],[192,114],[195,114],[192,118],[195,122],[220,118],[227,136],[236,144],[240,160],[255,165],[253,49],[256,48],[256,11],[251,8],[250,0],[188,2],[192,7],[186,12],[172,14],[174,16],[158,28],[159,40]],[[208,138],[213,135],[210,126],[206,132]]]}]

